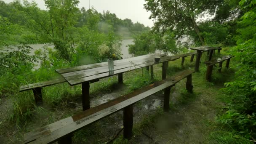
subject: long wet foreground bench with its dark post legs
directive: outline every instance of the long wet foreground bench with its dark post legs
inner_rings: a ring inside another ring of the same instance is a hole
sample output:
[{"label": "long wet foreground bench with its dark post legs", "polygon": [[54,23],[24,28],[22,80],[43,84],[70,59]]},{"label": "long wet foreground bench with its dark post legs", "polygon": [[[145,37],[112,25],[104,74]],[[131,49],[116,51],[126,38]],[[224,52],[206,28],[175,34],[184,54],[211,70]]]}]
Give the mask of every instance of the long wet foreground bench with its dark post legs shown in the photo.
[{"label": "long wet foreground bench with its dark post legs", "polygon": [[170,90],[174,85],[175,84],[170,81],[158,81],[125,96],[87,109],[72,117],[67,117],[35,131],[26,133],[24,134],[24,143],[48,144],[55,141],[65,144],[72,143],[72,133],[121,109],[123,109],[123,136],[125,139],[131,139],[133,129],[133,104],[158,91],[165,90],[164,110],[167,111],[169,109]]}]

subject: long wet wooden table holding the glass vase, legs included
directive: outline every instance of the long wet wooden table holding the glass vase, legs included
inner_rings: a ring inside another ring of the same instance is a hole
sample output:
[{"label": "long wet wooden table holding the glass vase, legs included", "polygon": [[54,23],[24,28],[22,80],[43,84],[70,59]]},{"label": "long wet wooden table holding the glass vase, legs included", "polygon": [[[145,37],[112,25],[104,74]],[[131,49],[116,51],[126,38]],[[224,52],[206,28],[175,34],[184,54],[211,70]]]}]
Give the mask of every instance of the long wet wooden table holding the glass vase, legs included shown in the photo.
[{"label": "long wet wooden table holding the glass vase, legs included", "polygon": [[[156,56],[160,57],[160,61],[155,61]],[[118,75],[118,82],[123,83],[124,72],[149,66],[151,67],[151,75],[153,75],[152,65],[159,63],[163,63],[162,79],[165,79],[168,61],[173,61],[179,58],[179,56],[167,56],[165,54],[151,53],[144,56],[114,61],[114,72],[112,73],[109,73],[108,62],[88,64],[66,69],[56,69],[56,72],[64,77],[69,85],[82,84],[82,104],[84,111],[86,109],[90,109],[90,82],[95,82],[104,77]]]}]

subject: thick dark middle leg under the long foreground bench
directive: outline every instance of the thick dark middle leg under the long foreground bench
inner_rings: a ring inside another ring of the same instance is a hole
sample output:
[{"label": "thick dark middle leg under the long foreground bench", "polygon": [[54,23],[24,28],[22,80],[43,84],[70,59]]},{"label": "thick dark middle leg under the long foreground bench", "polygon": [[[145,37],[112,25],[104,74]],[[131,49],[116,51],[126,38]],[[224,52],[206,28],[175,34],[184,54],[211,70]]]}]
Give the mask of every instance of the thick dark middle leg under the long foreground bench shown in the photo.
[{"label": "thick dark middle leg under the long foreground bench", "polygon": [[123,137],[131,139],[133,134],[133,105],[123,109]]}]

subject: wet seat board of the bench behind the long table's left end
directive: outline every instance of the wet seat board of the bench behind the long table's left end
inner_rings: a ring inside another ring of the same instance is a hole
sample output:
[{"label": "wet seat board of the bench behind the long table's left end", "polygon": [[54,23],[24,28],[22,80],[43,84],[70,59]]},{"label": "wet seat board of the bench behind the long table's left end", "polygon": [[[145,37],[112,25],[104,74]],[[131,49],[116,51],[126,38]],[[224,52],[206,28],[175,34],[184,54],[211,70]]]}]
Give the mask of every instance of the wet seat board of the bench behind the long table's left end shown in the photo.
[{"label": "wet seat board of the bench behind the long table's left end", "polygon": [[55,84],[59,84],[59,83],[64,83],[66,82],[66,80],[64,78],[59,78],[59,79],[56,79],[56,80],[49,80],[49,81],[46,81],[46,82],[40,82],[40,83],[32,83],[32,84],[29,84],[29,85],[22,85],[19,87],[19,91],[27,91],[27,90],[30,90],[30,89],[33,89],[33,88],[42,88],[42,87],[45,87],[45,86],[49,86],[49,85],[55,85]]}]

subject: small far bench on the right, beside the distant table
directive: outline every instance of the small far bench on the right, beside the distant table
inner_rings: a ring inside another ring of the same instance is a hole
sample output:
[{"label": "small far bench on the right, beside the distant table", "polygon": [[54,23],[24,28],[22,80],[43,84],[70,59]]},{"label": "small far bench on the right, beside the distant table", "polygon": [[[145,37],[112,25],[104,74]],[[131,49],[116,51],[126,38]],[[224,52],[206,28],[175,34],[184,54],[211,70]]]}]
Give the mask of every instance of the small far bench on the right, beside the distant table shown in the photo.
[{"label": "small far bench on the right, beside the distant table", "polygon": [[213,66],[215,66],[215,64],[219,63],[219,69],[218,72],[221,72],[221,68],[222,68],[222,63],[223,61],[226,61],[226,68],[229,68],[229,62],[230,59],[234,57],[234,56],[223,56],[221,58],[221,60],[211,60],[211,61],[205,61],[205,64],[207,64],[207,71],[206,71],[206,80],[211,81],[211,75],[212,75],[212,71],[213,71]]}]

